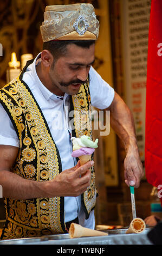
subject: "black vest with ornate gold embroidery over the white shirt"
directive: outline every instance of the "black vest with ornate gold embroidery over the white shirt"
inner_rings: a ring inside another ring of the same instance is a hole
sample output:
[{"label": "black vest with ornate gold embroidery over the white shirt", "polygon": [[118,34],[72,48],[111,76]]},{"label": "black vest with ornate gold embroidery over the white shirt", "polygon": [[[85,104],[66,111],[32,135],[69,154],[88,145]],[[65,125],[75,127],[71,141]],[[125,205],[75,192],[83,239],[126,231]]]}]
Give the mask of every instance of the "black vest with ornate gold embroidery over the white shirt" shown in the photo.
[{"label": "black vest with ornate gold embroidery over the white shirt", "polygon": [[[62,172],[59,150],[40,107],[28,85],[22,81],[22,74],[0,90],[0,102],[20,140],[20,150],[11,171],[33,181],[54,179]],[[80,137],[85,134],[91,137],[92,131],[87,129],[90,121],[88,80],[82,84],[79,93],[70,96],[70,106],[71,111],[74,110],[73,136]],[[81,195],[86,218],[94,209],[96,196],[95,173],[92,167],[90,186]],[[1,236],[3,240],[67,232],[64,223],[64,197],[28,200],[5,198],[4,202],[7,219]]]}]

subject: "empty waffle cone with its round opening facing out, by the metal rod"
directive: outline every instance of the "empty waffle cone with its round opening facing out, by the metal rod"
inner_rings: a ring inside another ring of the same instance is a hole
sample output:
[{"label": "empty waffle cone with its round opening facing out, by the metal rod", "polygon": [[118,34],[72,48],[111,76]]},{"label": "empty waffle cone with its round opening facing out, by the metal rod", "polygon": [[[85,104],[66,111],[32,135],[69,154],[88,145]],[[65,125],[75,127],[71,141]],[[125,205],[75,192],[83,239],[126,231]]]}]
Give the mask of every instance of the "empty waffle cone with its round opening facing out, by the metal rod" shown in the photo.
[{"label": "empty waffle cone with its round opening facing out, by the metal rod", "polygon": [[141,218],[134,218],[131,221],[131,224],[129,225],[128,230],[126,231],[126,234],[130,233],[142,233],[146,228],[145,222]]}]

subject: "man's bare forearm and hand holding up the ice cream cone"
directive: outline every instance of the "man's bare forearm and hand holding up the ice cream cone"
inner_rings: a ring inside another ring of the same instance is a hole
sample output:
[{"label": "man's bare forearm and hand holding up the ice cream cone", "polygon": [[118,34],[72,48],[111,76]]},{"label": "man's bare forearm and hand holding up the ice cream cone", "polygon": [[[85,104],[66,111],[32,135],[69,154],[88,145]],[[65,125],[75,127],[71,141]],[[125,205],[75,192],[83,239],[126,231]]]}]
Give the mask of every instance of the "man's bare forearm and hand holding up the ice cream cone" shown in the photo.
[{"label": "man's bare forearm and hand holding up the ice cream cone", "polygon": [[87,190],[90,185],[90,167],[93,161],[80,166],[66,169],[47,181],[24,179],[9,170],[0,170],[0,185],[3,188],[3,197],[12,199],[77,197]]}]

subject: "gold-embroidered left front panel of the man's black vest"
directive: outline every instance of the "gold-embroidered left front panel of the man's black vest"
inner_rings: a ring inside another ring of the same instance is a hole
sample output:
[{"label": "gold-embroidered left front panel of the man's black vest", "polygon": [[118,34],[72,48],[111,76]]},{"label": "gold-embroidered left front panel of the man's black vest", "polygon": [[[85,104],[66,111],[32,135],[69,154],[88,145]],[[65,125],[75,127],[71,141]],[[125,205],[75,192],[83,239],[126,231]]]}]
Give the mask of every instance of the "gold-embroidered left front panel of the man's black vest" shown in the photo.
[{"label": "gold-embroidered left front panel of the man's black vest", "polygon": [[[20,137],[21,152],[13,172],[25,179],[53,179],[59,173],[56,148],[33,97],[20,80],[5,86],[0,97],[10,111]],[[33,199],[32,203],[7,198],[5,202],[10,211],[9,215],[7,212],[8,228],[5,227],[3,239],[63,233],[59,197]],[[44,204],[48,207],[44,208]]]}]

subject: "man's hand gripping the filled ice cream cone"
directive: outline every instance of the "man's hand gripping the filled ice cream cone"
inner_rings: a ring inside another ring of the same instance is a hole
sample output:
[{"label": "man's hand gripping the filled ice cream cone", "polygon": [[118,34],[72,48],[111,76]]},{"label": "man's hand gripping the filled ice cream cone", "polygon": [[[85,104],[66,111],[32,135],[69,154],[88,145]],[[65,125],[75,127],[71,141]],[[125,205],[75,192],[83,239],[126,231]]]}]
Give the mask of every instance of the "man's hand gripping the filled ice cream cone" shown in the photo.
[{"label": "man's hand gripping the filled ice cream cone", "polygon": [[89,170],[94,164],[89,161],[80,166],[80,161],[73,168],[64,170],[55,179],[48,181],[49,197],[77,197],[87,190],[90,185],[91,172]]}]

